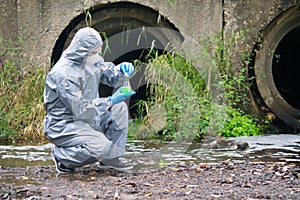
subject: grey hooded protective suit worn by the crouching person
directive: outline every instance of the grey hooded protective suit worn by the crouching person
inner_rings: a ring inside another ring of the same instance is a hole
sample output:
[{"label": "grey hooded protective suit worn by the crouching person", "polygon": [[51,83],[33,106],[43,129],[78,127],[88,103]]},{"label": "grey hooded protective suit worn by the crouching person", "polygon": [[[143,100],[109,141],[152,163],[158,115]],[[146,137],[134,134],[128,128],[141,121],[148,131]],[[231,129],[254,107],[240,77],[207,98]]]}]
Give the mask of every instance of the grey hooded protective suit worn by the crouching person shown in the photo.
[{"label": "grey hooded protective suit worn by the crouching person", "polygon": [[68,168],[125,153],[127,105],[112,105],[98,93],[100,83],[122,84],[123,74],[98,54],[88,56],[99,45],[97,31],[80,29],[46,78],[44,132],[55,144],[55,158]]}]

